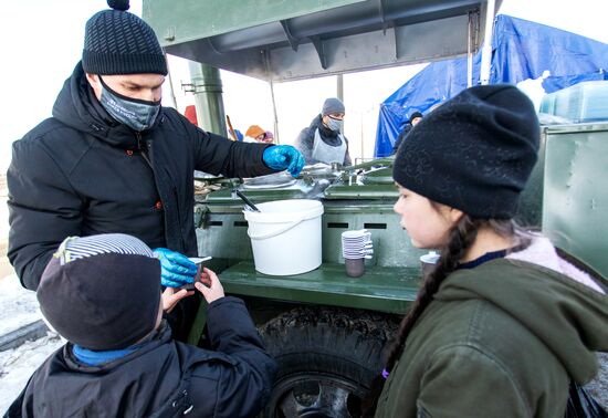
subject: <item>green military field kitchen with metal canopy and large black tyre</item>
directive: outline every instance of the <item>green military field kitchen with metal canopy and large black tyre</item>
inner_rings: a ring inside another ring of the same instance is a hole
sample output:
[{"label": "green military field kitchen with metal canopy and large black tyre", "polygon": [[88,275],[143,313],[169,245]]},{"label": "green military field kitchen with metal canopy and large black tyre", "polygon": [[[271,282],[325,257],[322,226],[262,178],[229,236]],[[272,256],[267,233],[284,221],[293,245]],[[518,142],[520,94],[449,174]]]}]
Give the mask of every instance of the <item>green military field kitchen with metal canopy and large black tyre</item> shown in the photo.
[{"label": "green military field kitchen with metal canopy and large black tyre", "polygon": [[[471,55],[491,34],[500,6],[481,0],[144,0],[146,19],[167,53],[195,62],[197,109],[208,130],[226,133],[217,69],[289,82]],[[416,39],[417,42],[409,42]],[[488,61],[489,62],[489,61]],[[482,71],[483,74],[483,71]],[[483,80],[483,75],[482,75]],[[608,274],[608,124],[545,126],[543,148],[520,219]],[[228,293],[244,299],[280,365],[263,415],[356,417],[381,351],[419,285],[419,257],[392,212],[390,158],[347,168],[308,167],[242,180],[198,178],[199,254],[211,255]],[[254,203],[318,199],[322,265],[293,276],[256,272],[239,189]],[[371,231],[374,258],[360,278],[345,273],[340,234]],[[205,344],[201,310],[190,342]]]}]

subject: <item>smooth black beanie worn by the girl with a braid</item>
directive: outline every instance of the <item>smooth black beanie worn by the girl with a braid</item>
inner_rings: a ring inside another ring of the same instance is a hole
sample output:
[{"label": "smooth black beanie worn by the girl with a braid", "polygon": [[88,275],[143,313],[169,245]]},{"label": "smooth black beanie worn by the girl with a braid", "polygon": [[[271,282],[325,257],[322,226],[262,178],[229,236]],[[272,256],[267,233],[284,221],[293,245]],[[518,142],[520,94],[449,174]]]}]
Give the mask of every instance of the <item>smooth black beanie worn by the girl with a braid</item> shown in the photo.
[{"label": "smooth black beanie worn by the girl with a braid", "polygon": [[536,164],[538,118],[507,84],[464,90],[423,117],[397,151],[402,187],[481,219],[509,219]]}]

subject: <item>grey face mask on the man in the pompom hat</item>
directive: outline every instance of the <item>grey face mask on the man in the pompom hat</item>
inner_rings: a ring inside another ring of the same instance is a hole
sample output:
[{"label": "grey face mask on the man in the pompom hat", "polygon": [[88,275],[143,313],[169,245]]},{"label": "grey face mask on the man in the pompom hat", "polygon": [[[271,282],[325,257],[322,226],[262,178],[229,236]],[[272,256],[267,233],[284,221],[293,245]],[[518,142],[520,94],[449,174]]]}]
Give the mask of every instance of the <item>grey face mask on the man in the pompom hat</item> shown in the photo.
[{"label": "grey face mask on the man in the pompom hat", "polygon": [[112,117],[134,130],[141,132],[149,129],[160,112],[160,102],[141,101],[130,98],[116,93],[102,82],[102,97],[99,103]]}]

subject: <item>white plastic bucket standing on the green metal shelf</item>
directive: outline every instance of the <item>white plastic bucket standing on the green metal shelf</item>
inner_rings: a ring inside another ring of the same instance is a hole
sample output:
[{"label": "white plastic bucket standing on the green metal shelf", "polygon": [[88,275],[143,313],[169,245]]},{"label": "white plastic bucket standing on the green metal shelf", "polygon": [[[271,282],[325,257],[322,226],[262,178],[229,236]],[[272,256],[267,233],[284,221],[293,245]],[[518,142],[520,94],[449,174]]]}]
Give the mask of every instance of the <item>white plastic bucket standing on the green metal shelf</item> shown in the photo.
[{"label": "white plastic bucket standing on the green metal shelf", "polygon": [[321,216],[317,200],[276,200],[243,211],[255,270],[270,275],[302,274],[321,265]]}]

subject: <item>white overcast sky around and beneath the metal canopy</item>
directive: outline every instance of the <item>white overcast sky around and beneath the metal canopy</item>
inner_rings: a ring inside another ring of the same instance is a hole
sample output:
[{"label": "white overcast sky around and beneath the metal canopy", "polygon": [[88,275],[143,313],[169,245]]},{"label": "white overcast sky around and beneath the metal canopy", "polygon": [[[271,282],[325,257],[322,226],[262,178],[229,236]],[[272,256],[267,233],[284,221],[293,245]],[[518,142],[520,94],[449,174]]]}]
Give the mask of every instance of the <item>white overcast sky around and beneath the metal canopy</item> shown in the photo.
[{"label": "white overcast sky around and beneath the metal canopy", "polygon": [[[10,143],[50,116],[56,94],[80,60],[86,20],[106,7],[104,0],[22,0],[2,4],[0,28],[4,36],[0,65],[1,170],[6,169],[10,159]],[[132,11],[140,13],[140,10],[141,1],[132,1]],[[607,0],[504,0],[500,12],[608,43]],[[347,133],[357,127],[357,135],[361,138],[373,136],[378,104],[415,72],[406,67],[345,76]],[[181,75],[178,79],[180,77]],[[222,79],[224,107],[235,127],[244,130],[250,124],[256,123],[272,128],[268,85],[233,74],[224,74]],[[180,81],[174,80],[177,95],[181,94]],[[286,123],[282,130],[286,138],[284,142],[291,142],[297,130],[307,125],[318,112],[323,98],[332,95],[335,95],[333,77],[284,83],[279,86],[279,106],[286,102],[293,104],[294,100],[300,103],[297,112],[280,114],[283,122],[290,122],[289,118],[294,117],[293,123]],[[184,102],[191,100],[191,96],[185,97]],[[348,116],[352,116],[349,121]],[[365,154],[368,154],[367,150]]]}]

